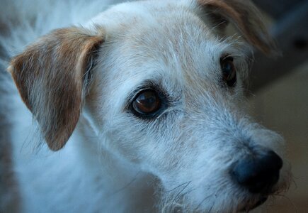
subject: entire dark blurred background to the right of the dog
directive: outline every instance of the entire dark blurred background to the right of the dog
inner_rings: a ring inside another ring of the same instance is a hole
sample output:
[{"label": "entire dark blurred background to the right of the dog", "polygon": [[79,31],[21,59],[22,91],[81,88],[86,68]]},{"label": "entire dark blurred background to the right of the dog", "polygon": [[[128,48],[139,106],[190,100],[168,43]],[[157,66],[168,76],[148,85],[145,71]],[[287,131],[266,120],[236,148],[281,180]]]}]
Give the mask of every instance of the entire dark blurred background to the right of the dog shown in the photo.
[{"label": "entire dark blurred background to the right of the dog", "polygon": [[251,114],[286,140],[294,182],[264,212],[308,212],[308,1],[254,0],[283,57],[256,54],[251,70]]}]

